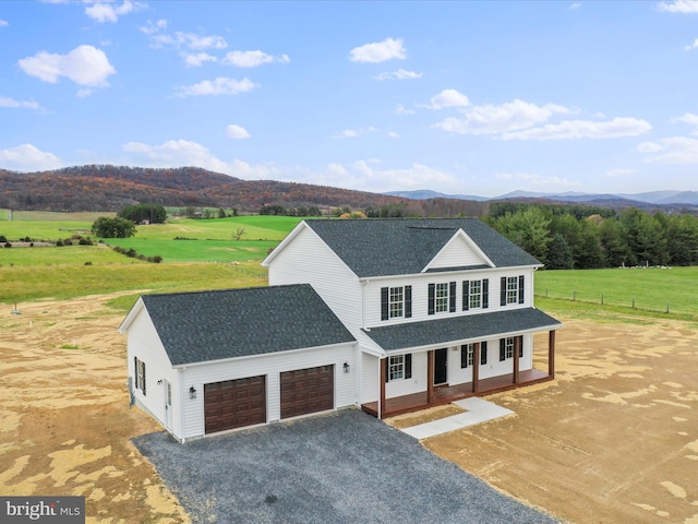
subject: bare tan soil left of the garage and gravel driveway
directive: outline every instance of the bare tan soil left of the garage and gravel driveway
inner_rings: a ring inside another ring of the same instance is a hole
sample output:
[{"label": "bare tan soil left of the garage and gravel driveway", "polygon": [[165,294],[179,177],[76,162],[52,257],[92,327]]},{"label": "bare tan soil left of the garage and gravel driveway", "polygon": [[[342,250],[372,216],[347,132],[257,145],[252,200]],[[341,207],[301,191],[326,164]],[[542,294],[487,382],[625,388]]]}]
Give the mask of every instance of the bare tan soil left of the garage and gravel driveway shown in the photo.
[{"label": "bare tan soil left of the garage and gravel driveway", "polygon": [[188,523],[130,442],[160,428],[129,408],[115,296],[0,311],[0,495],[84,496],[88,523]]}]

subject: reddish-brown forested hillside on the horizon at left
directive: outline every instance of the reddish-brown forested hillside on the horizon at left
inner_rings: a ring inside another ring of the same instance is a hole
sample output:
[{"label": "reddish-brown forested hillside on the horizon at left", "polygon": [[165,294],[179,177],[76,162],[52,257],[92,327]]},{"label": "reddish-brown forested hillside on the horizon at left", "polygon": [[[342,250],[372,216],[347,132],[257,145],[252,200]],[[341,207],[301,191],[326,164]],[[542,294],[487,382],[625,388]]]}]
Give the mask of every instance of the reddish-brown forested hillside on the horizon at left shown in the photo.
[{"label": "reddish-brown forested hillside on the horizon at left", "polygon": [[0,169],[0,207],[113,211],[136,203],[257,211],[262,205],[350,206],[398,204],[405,199],[309,183],[241,180],[197,167],[80,166],[52,171]]}]

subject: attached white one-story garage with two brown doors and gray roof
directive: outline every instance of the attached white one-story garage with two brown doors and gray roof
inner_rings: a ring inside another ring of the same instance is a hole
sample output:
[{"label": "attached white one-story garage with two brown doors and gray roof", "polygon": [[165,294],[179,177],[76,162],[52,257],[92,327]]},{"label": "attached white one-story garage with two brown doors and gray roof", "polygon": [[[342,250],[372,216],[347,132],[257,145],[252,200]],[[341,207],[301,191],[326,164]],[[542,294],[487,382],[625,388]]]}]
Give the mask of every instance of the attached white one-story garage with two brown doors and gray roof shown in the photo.
[{"label": "attached white one-story garage with two brown doors and gray roof", "polygon": [[358,343],[309,284],[144,295],[120,331],[132,402],[181,442],[357,405]]}]

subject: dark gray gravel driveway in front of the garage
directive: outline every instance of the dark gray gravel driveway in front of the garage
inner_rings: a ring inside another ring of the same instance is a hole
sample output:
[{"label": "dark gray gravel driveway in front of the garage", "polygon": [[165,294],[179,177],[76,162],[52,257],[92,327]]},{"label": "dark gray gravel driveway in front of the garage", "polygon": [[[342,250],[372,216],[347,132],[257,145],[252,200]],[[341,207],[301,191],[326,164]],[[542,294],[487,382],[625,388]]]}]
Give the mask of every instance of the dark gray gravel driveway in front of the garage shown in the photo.
[{"label": "dark gray gravel driveway in front of the garage", "polygon": [[353,409],[134,443],[194,523],[553,523]]}]

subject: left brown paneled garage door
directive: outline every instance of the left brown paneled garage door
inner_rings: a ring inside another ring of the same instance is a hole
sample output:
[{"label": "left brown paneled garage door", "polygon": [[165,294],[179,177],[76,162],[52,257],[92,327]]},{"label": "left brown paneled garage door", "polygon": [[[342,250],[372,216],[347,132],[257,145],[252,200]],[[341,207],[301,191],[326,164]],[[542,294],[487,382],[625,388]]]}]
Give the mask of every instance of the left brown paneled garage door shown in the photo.
[{"label": "left brown paneled garage door", "polygon": [[265,377],[204,384],[206,433],[266,422]]}]

